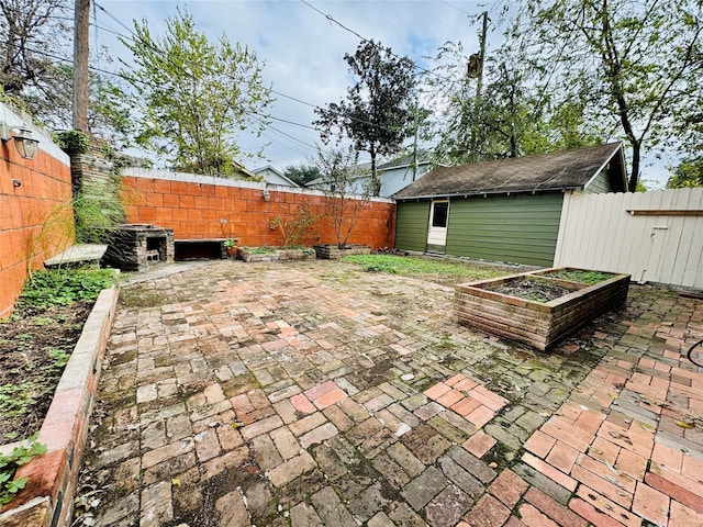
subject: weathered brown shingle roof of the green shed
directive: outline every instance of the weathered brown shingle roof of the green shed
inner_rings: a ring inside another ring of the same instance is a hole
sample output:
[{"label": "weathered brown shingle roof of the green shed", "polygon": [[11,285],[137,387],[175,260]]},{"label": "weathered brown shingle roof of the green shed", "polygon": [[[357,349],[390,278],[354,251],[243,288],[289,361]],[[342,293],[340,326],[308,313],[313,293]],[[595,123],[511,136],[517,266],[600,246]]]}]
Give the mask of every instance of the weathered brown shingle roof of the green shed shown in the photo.
[{"label": "weathered brown shingle roof of the green shed", "polygon": [[613,188],[627,189],[622,143],[574,150],[440,167],[400,190],[397,200],[496,192],[585,189],[610,166]]}]

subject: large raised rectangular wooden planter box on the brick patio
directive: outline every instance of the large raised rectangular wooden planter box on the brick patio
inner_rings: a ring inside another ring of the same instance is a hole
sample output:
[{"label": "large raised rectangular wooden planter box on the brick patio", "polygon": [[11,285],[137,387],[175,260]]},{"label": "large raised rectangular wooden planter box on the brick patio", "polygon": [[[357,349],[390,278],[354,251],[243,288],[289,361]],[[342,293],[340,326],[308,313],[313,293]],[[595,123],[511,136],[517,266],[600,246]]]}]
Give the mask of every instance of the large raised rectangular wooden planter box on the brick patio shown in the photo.
[{"label": "large raised rectangular wooden planter box on the brick patio", "polygon": [[[593,285],[549,277],[562,269],[524,272],[457,285],[455,309],[459,323],[546,350],[595,316],[625,303],[629,274],[614,274]],[[542,303],[490,290],[525,278],[556,283],[572,292]]]}]

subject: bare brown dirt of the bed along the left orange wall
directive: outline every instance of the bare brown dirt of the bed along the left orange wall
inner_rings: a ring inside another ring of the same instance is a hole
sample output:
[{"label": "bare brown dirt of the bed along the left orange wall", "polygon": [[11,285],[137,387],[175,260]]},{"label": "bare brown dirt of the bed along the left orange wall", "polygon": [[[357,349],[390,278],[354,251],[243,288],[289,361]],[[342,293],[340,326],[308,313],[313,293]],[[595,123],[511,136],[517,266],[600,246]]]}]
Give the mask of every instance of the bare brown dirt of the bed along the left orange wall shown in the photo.
[{"label": "bare brown dirt of the bed along the left orange wall", "polygon": [[16,310],[0,321],[0,445],[38,430],[92,302]]}]

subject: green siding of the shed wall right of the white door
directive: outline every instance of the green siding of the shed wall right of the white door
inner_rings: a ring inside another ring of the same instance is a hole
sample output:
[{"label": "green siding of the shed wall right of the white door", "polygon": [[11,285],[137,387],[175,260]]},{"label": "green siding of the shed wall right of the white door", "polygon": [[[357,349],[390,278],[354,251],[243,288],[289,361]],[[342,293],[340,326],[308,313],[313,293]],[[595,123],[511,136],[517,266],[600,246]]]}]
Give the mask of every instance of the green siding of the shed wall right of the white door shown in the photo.
[{"label": "green siding of the shed wall right of the white door", "polygon": [[562,201],[560,192],[451,200],[446,253],[551,266]]}]

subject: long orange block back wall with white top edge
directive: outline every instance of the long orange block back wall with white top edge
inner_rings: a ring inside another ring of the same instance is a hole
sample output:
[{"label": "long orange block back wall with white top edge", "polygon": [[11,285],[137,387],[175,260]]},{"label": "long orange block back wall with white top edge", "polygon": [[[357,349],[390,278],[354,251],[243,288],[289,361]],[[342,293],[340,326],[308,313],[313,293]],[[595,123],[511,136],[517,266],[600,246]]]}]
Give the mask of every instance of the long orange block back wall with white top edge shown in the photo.
[{"label": "long orange block back wall with white top edge", "polygon": [[[178,239],[237,238],[239,246],[280,246],[281,233],[271,228],[276,216],[295,218],[303,206],[321,214],[308,240],[334,244],[336,236],[327,198],[320,192],[268,187],[270,199],[264,199],[264,183],[222,180],[203,176],[126,169],[123,177],[123,204],[129,223],[150,223],[174,229]],[[152,173],[155,177],[149,177]],[[372,249],[393,246],[395,204],[391,200],[371,200],[352,231],[350,244],[369,245]]]}]

